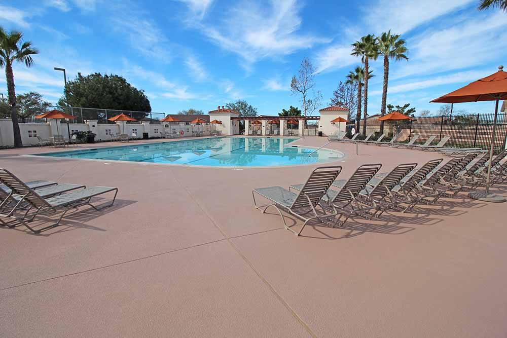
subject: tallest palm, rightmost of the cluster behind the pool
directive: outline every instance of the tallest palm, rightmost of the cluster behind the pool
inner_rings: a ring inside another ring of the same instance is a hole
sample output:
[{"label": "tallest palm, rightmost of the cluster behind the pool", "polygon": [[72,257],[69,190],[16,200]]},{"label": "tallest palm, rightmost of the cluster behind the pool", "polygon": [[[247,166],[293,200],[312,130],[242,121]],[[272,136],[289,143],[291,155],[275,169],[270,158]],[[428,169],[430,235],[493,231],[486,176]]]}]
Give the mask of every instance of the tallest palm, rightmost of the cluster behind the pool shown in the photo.
[{"label": "tallest palm, rightmost of the cluster behind the pool", "polygon": [[[385,115],[385,105],[387,100],[387,82],[389,81],[389,59],[408,60],[405,55],[407,47],[405,47],[405,40],[400,39],[400,34],[391,34],[391,30],[387,33],[384,32],[377,38],[379,54],[384,56],[384,85],[382,87],[382,104],[380,108],[380,115]],[[384,121],[380,122],[380,135],[384,132]]]}]

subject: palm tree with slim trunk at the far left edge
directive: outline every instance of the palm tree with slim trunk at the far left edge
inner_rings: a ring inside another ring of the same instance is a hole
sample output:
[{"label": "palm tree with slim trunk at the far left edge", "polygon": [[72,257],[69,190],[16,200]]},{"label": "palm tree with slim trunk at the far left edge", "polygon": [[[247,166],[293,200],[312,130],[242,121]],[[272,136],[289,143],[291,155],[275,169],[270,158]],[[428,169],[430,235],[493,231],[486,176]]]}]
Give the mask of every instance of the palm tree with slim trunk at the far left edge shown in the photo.
[{"label": "palm tree with slim trunk at the far left edge", "polygon": [[8,102],[11,109],[11,120],[14,133],[14,146],[22,147],[21,132],[19,131],[18,114],[16,111],[16,92],[14,90],[14,74],[12,64],[14,61],[24,63],[31,67],[33,59],[31,55],[38,54],[39,51],[31,47],[31,42],[21,43],[23,34],[18,31],[6,32],[0,27],[0,67],[5,67],[5,77],[7,80]]}]

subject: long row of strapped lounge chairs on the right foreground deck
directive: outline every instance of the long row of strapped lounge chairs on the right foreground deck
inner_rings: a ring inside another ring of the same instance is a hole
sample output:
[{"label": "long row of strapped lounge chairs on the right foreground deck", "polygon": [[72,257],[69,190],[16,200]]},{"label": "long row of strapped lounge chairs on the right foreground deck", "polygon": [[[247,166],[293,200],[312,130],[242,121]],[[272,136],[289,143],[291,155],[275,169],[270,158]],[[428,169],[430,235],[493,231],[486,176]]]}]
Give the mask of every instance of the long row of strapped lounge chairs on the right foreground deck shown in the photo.
[{"label": "long row of strapped lounge chairs on the right foreground deck", "polygon": [[[492,183],[507,180],[507,156],[503,151],[492,165]],[[253,205],[263,213],[274,207],[282,218],[285,229],[300,235],[306,224],[320,221],[332,227],[341,227],[349,217],[381,216],[387,210],[406,212],[419,203],[436,203],[445,194],[456,195],[463,189],[475,189],[486,181],[488,157],[469,153],[465,156],[431,160],[417,168],[417,163],[404,163],[388,173],[380,173],[381,164],[361,165],[347,179],[337,180],[341,166],[319,167],[303,184],[289,189],[270,186],[252,191]],[[256,195],[270,203],[260,207]],[[299,231],[287,226],[282,212],[304,221]]]}]

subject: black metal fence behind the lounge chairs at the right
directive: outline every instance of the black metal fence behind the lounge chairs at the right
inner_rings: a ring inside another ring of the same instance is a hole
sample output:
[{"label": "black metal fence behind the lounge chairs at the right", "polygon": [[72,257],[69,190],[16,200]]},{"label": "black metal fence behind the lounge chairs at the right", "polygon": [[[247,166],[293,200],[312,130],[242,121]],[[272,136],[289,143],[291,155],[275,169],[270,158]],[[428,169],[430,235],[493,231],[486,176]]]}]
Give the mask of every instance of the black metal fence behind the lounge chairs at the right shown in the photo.
[{"label": "black metal fence behind the lounge chairs at the right", "polygon": [[[487,149],[491,146],[493,119],[494,114],[419,117],[406,122],[385,122],[384,133],[387,133],[388,138],[395,133],[399,133],[397,141],[401,142],[408,141],[413,135],[419,135],[418,143],[430,136],[436,136],[434,142],[449,136],[450,139],[446,146]],[[496,123],[494,147],[498,151],[505,148],[507,114],[504,112],[499,113]],[[380,125],[378,120],[367,120],[367,134],[374,133],[373,139],[380,136]],[[349,124],[349,126],[352,126],[352,124]],[[363,121],[361,121],[359,128],[359,132],[362,131]]]}]

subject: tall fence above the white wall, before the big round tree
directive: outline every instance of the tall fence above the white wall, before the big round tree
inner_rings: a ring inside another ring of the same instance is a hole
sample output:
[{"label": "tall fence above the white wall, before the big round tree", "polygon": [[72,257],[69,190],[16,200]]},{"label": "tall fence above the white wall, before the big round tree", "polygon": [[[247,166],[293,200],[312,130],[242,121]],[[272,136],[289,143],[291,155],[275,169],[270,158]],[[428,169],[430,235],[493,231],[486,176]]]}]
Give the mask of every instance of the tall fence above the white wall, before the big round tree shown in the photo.
[{"label": "tall fence above the white wall, before the big round tree", "polygon": [[[84,123],[86,120],[97,120],[98,123],[111,123],[115,122],[108,121],[116,115],[125,114],[133,119],[141,120],[143,118],[149,118],[151,120],[160,120],[166,116],[164,112],[148,112],[148,111],[136,111],[136,110],[117,110],[117,109],[99,109],[99,108],[85,108],[85,107],[60,107],[51,106],[49,110],[58,109],[64,111],[75,117],[71,122],[73,123]],[[36,119],[34,116],[30,117],[19,117],[21,123],[45,123],[45,119]],[[153,123],[158,123],[153,121]]]}]

